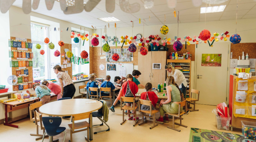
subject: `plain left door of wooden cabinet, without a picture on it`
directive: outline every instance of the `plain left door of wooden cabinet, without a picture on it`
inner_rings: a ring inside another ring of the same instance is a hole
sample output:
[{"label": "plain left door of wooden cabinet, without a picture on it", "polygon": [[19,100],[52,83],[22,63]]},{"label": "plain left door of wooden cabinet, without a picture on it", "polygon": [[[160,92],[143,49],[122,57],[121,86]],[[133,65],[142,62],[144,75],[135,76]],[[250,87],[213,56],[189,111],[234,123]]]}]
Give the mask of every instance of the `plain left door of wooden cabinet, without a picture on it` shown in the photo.
[{"label": "plain left door of wooden cabinet, without a picture on it", "polygon": [[[151,83],[151,51],[148,52],[145,56],[138,53],[138,70],[141,72],[138,80],[142,85],[146,85],[146,83]],[[140,85],[139,88],[142,88]]]}]

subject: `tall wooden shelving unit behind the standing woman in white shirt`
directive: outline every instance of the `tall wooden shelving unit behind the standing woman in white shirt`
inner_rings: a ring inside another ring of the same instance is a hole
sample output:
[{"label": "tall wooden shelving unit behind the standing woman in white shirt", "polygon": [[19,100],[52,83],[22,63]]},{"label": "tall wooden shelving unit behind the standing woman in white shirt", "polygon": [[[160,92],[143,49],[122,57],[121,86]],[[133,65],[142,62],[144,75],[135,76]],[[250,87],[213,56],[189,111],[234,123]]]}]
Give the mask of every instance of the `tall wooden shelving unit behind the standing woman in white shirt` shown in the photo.
[{"label": "tall wooden shelving unit behind the standing woman in white shirt", "polygon": [[[189,72],[182,72],[184,74],[185,77],[188,77],[188,80],[187,80],[187,84],[188,84],[188,87],[187,87],[187,97],[188,96],[190,97],[190,81],[191,81],[191,60],[182,60],[182,59],[179,59],[179,60],[173,60],[173,59],[167,59],[167,63],[168,64],[171,64],[174,68],[175,66],[181,66],[181,67],[189,67],[189,69],[177,69],[177,70],[189,70]],[[168,73],[166,71],[166,78],[168,77]]]}]

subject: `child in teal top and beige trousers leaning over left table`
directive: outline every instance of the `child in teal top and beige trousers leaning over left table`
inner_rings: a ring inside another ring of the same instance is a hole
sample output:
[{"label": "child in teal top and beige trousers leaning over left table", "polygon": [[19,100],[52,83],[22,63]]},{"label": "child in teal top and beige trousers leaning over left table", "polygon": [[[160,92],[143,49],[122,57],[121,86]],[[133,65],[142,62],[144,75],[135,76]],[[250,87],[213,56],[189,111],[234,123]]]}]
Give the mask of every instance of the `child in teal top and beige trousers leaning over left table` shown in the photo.
[{"label": "child in teal top and beige trousers leaning over left table", "polygon": [[47,88],[45,85],[41,85],[40,83],[33,84],[33,89],[40,101],[42,101],[42,105],[49,103],[51,99],[51,90]]}]

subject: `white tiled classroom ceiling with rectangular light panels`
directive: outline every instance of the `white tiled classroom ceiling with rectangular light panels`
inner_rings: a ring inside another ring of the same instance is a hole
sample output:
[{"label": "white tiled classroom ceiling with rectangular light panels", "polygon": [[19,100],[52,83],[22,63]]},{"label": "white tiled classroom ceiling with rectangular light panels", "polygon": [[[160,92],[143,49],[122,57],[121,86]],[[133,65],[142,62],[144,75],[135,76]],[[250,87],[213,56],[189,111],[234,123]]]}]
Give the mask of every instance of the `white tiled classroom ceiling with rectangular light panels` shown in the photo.
[{"label": "white tiled classroom ceiling with rectangular light panels", "polygon": [[[87,2],[88,0],[84,0]],[[119,0],[115,0],[115,11],[113,13],[108,13],[106,11],[105,2],[106,0],[101,0],[99,4],[91,11],[78,14],[66,15],[60,9],[59,2],[55,1],[52,10],[46,9],[46,4],[44,0],[40,0],[38,9],[33,12],[37,12],[46,16],[54,17],[60,20],[68,21],[77,25],[97,29],[104,28],[105,25],[110,24],[110,28],[114,28],[114,24],[117,27],[131,27],[134,21],[134,26],[143,25],[143,19],[145,19],[144,25],[163,25],[164,14],[166,14],[165,24],[177,23],[178,16],[174,17],[174,10],[177,14],[179,11],[179,23],[189,23],[189,22],[204,22],[205,14],[200,14],[200,7],[193,7],[191,0],[177,0],[177,6],[174,9],[167,7],[166,0],[154,0],[154,7],[151,9],[145,9],[143,6],[144,0],[129,0],[129,3],[139,3],[141,9],[136,13],[125,13],[121,10],[119,6]],[[14,6],[22,8],[22,0],[16,0],[13,3]],[[228,0],[222,4],[211,5],[219,6],[227,5],[223,12],[207,13],[206,21],[216,21],[216,20],[232,20],[236,19],[236,6],[237,0]],[[238,0],[238,19],[256,18],[256,2],[254,0]],[[207,4],[209,6],[209,4]],[[201,7],[205,7],[205,3],[202,3]],[[118,22],[104,22],[97,18],[103,17],[116,17],[121,20]],[[149,21],[150,16],[150,21]],[[141,24],[139,24],[139,18],[141,18]]]}]

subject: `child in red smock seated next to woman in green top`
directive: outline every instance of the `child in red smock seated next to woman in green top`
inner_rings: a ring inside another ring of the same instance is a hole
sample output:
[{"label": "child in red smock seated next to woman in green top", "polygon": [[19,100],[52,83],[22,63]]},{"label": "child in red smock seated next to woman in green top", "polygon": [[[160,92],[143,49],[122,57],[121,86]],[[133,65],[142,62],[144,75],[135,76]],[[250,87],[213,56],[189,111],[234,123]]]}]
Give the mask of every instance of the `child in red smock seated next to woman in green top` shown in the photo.
[{"label": "child in red smock seated next to woman in green top", "polygon": [[[157,94],[152,91],[152,84],[147,83],[145,86],[145,89],[146,89],[146,92],[141,93],[141,99],[152,101],[152,110],[156,110],[155,107],[158,101],[158,97],[157,97]],[[150,107],[146,105],[141,105],[141,110],[150,110]],[[152,118],[149,118],[149,119],[152,119]],[[144,120],[146,120],[145,116],[144,116]]]}]

